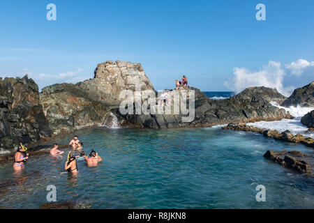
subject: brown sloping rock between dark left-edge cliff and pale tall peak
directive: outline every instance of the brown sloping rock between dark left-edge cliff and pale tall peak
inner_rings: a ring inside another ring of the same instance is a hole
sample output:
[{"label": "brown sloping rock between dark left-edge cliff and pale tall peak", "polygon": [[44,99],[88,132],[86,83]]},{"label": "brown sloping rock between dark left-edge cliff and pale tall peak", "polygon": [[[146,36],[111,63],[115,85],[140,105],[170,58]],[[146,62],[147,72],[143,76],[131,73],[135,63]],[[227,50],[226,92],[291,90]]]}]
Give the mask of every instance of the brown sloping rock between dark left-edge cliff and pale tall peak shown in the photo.
[{"label": "brown sloping rock between dark left-edge cliff and pale tall peak", "polygon": [[110,113],[102,102],[87,97],[75,84],[54,84],[40,93],[40,102],[54,134],[103,125]]}]

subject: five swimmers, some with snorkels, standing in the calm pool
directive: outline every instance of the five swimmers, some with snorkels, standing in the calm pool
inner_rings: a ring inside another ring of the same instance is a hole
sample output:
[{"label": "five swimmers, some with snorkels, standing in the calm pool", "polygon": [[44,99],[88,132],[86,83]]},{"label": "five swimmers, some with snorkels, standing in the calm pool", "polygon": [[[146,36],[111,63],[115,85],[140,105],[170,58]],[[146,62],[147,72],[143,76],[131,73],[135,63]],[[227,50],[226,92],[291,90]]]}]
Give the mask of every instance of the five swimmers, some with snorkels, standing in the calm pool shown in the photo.
[{"label": "five swimmers, some with snorkels, standing in the calm pool", "polygon": [[[85,152],[83,151],[83,144],[80,142],[77,136],[75,136],[70,143],[68,144],[68,147],[71,148],[71,150],[68,153],[68,160],[66,160],[66,163],[64,165],[64,169],[72,174],[77,174],[77,162],[76,160],[85,160],[87,162],[87,166],[89,167],[95,167],[97,166],[98,162],[101,162],[103,159],[96,153],[96,151],[91,150],[91,153],[89,153],[88,156],[85,155]],[[20,144],[17,148],[17,151],[15,153],[15,162],[13,164],[13,169],[15,171],[20,171],[25,168],[25,164],[27,163],[27,160],[29,159],[29,153],[26,152],[27,148],[24,147],[22,144]],[[75,156],[73,154],[73,151],[80,151],[79,156]],[[57,157],[59,155],[63,155],[64,151],[58,150],[58,144],[55,143],[52,148],[50,149],[50,155],[52,157]]]}]

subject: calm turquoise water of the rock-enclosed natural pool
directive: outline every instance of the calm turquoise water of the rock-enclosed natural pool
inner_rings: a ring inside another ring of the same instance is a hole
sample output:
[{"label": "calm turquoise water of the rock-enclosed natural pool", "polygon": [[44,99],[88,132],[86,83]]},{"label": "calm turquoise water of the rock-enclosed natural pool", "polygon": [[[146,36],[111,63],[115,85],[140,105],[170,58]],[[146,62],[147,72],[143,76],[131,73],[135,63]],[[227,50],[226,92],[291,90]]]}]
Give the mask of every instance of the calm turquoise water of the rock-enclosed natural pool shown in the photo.
[{"label": "calm turquoise water of the rock-enclosed natural pool", "polygon": [[[38,208],[47,202],[47,185],[55,185],[57,201],[91,208],[314,208],[313,178],[262,157],[267,150],[314,155],[302,145],[220,128],[75,133],[87,153],[94,149],[103,157],[98,167],[80,161],[77,177],[61,174],[66,155],[30,157],[19,176],[12,164],[1,165],[0,207]],[[260,184],[266,202],[255,200]]]}]

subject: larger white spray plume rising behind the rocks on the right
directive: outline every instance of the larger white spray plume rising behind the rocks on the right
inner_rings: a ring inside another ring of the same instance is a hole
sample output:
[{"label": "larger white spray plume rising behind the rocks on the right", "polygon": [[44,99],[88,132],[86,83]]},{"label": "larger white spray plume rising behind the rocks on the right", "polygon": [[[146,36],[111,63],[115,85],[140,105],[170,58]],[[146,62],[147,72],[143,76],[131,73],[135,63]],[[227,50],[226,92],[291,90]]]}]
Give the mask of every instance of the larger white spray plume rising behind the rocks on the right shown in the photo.
[{"label": "larger white spray plume rising behind the rocks on the right", "polygon": [[251,71],[246,68],[234,68],[234,77],[230,82],[225,82],[225,86],[236,93],[243,91],[250,86],[266,86],[277,89],[283,95],[289,96],[294,87],[284,87],[283,78],[285,70],[281,68],[280,62],[269,61],[267,66],[263,66],[260,71]]}]

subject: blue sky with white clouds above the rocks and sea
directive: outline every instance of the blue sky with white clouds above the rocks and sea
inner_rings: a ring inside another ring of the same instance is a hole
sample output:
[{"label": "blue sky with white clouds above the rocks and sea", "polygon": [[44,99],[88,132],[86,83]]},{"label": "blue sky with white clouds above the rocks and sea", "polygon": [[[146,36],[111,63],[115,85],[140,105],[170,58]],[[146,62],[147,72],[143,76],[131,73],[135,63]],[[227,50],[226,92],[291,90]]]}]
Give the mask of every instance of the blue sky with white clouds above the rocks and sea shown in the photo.
[{"label": "blue sky with white clouds above the rocks and sea", "polygon": [[[46,19],[48,3],[57,21]],[[255,19],[257,3],[266,21]],[[0,0],[0,76],[30,73],[42,88],[94,77],[111,59],[142,63],[155,89],[185,74],[202,91],[287,92],[314,80],[313,8],[313,0]]]}]

